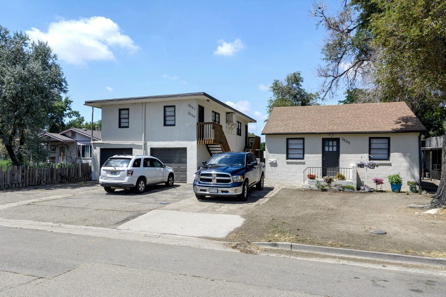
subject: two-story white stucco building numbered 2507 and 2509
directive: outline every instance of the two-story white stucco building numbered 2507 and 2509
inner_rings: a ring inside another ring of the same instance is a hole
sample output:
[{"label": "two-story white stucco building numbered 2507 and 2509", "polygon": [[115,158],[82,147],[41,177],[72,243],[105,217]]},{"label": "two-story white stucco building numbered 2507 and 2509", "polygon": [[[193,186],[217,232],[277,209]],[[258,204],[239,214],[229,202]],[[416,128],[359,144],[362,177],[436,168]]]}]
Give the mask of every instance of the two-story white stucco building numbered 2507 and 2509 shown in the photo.
[{"label": "two-story white stucco building numbered 2507 and 2509", "polygon": [[172,167],[176,182],[192,183],[211,154],[252,148],[256,121],[204,93],[86,101],[102,110],[102,140],[93,142],[92,178],[116,154],[151,155]]}]

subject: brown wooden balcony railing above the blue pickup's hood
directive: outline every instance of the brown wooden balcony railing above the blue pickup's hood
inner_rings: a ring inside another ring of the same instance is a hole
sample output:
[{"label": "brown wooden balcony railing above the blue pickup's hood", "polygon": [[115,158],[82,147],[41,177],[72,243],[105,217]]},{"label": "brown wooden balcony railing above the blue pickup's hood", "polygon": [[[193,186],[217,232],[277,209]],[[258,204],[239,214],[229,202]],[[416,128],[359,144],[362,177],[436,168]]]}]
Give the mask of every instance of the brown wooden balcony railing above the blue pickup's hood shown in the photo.
[{"label": "brown wooden balcony railing above the blue pickup's hood", "polygon": [[197,123],[197,143],[219,144],[223,152],[231,152],[223,127],[214,122]]}]

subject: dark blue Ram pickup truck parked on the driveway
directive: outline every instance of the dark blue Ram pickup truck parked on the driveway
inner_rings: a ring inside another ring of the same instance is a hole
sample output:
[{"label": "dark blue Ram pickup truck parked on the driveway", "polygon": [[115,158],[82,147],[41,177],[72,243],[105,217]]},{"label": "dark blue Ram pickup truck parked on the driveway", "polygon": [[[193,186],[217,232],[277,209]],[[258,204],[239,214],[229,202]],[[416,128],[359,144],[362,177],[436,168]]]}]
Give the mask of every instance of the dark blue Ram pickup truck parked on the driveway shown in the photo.
[{"label": "dark blue Ram pickup truck parked on the driveway", "polygon": [[198,199],[206,195],[236,196],[248,199],[248,188],[263,188],[265,164],[257,163],[253,153],[218,153],[195,173],[194,192]]}]

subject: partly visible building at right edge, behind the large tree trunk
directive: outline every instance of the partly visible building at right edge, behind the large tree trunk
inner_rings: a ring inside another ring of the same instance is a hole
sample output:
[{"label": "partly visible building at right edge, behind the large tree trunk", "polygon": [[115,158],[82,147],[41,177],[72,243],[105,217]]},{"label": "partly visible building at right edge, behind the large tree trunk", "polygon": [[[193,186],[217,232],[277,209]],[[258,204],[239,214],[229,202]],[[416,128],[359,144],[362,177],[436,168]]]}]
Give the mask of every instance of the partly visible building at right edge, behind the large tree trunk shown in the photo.
[{"label": "partly visible building at right edge, behind the large tree trunk", "polygon": [[[440,179],[441,177],[441,149],[444,136],[426,138],[421,148],[423,151],[423,173],[429,179]],[[428,177],[429,176],[429,177]]]}]

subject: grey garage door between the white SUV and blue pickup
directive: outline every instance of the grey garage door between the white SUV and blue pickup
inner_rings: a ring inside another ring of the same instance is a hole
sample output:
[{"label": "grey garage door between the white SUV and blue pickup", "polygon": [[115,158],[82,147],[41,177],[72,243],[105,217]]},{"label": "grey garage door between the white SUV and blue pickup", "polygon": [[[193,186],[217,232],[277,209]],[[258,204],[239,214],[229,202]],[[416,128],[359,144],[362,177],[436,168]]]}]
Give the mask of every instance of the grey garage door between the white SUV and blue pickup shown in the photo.
[{"label": "grey garage door between the white SUV and blue pickup", "polygon": [[186,182],[188,154],[186,147],[179,149],[152,149],[150,155],[173,168],[175,182]]}]

